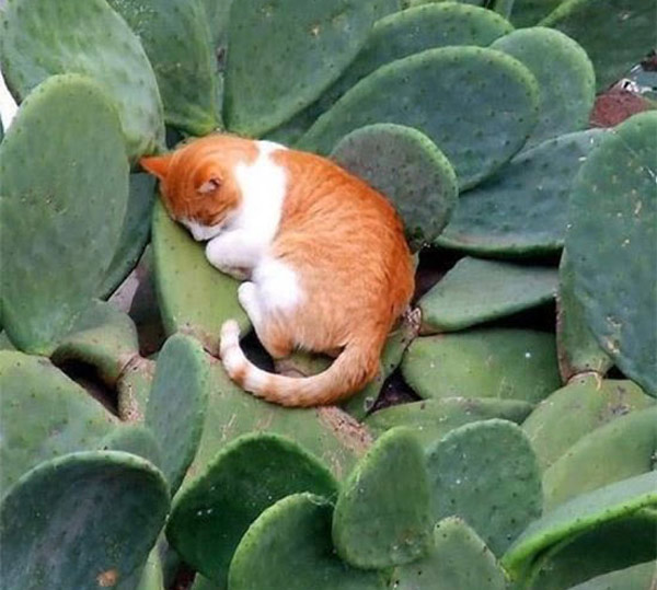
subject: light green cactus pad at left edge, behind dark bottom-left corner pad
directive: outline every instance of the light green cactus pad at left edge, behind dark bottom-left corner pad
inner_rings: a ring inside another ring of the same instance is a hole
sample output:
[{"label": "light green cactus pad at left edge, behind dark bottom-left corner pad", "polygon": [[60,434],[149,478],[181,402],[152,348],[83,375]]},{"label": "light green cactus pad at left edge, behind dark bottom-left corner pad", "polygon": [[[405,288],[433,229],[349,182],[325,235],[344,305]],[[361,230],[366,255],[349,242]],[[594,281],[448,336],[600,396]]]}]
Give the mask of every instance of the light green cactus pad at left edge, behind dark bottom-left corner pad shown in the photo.
[{"label": "light green cactus pad at left edge, behind dark bottom-left corner pad", "polygon": [[117,420],[41,357],[0,352],[0,496],[54,456],[99,448]]}]

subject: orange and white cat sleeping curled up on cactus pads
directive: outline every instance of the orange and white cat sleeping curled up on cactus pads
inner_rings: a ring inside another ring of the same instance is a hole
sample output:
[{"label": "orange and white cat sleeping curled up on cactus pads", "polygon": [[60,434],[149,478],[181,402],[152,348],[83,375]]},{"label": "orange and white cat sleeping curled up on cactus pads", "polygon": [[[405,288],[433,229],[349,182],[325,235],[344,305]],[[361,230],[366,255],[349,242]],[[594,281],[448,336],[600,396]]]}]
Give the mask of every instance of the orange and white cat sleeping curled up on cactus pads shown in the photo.
[{"label": "orange and white cat sleeping curled up on cactus pads", "polygon": [[274,359],[295,348],[338,355],[307,378],[269,373],[221,328],[233,381],[288,406],[330,404],[376,375],[385,338],[414,289],[411,253],[390,203],[331,161],[269,141],[212,135],[142,158],[171,217],[223,273]]}]

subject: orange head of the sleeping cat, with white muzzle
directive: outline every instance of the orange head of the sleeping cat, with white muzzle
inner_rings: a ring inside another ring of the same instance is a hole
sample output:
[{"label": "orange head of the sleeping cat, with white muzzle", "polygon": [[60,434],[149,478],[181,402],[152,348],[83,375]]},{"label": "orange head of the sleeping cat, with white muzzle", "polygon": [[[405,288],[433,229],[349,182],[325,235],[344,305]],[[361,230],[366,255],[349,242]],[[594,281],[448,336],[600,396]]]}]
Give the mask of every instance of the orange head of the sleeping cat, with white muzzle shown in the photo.
[{"label": "orange head of the sleeping cat, with white muzzle", "polygon": [[139,163],[160,180],[169,215],[201,241],[217,235],[237,211],[242,197],[235,167],[255,157],[251,141],[215,135]]}]

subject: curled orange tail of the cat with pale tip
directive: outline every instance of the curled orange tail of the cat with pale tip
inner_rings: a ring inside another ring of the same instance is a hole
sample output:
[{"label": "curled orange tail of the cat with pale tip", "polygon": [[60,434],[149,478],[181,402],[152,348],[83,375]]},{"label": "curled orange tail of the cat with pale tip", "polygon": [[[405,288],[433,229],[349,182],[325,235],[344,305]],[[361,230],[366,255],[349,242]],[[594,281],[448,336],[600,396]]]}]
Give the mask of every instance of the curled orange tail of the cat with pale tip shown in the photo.
[{"label": "curled orange tail of the cat with pale tip", "polygon": [[333,404],[361,390],[379,370],[378,348],[351,343],[325,371],[304,378],[286,377],[263,371],[244,356],[234,320],[221,326],[221,362],[229,377],[255,396],[284,406]]}]

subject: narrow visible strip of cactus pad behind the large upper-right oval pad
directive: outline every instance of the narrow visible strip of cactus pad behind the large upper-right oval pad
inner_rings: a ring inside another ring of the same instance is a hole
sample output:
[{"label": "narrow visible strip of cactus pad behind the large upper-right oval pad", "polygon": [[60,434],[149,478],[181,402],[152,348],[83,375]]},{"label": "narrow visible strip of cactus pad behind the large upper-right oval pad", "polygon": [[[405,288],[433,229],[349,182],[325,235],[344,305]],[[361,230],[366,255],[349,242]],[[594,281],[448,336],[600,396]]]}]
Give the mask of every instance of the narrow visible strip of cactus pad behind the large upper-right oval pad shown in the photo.
[{"label": "narrow visible strip of cactus pad behind the large upper-right oval pad", "polygon": [[511,31],[507,21],[489,10],[454,2],[426,4],[390,14],[374,23],[356,59],[320,99],[274,130],[272,138],[296,142],[345,92],[385,63],[436,47],[485,47]]}]

